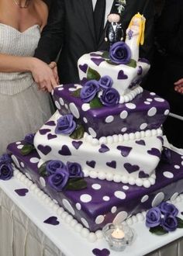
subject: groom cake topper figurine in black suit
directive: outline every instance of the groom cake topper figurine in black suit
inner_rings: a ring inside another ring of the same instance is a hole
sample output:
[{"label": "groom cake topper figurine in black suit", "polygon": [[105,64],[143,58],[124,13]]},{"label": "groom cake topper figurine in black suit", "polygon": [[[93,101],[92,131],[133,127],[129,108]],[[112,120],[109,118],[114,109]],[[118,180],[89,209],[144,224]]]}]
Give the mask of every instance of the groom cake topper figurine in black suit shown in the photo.
[{"label": "groom cake topper figurine in black suit", "polygon": [[108,16],[108,21],[109,23],[105,29],[105,41],[109,41],[110,45],[118,41],[122,41],[124,33],[119,14],[110,13]]}]

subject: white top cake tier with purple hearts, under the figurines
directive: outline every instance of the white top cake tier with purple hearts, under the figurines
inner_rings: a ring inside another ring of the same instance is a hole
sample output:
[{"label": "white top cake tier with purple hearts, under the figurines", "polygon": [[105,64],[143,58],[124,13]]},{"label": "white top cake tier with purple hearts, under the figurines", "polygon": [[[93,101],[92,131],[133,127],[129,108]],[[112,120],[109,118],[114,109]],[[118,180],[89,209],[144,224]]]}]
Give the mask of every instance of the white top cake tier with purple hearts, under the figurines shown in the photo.
[{"label": "white top cake tier with purple hearts, under the figurines", "polygon": [[133,88],[140,85],[149,68],[150,64],[145,59],[132,59],[128,64],[114,64],[109,60],[109,53],[102,51],[85,54],[78,60],[81,84],[108,75],[113,81],[112,88],[119,92],[119,103],[129,102],[135,98]]}]

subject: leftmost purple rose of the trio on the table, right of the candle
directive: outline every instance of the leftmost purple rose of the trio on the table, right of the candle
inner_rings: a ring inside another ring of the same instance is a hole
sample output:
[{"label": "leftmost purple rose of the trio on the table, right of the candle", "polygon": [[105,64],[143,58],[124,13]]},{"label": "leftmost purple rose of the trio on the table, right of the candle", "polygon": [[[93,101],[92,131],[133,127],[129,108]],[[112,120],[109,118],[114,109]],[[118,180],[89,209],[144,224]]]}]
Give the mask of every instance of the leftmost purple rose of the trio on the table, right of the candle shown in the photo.
[{"label": "leftmost purple rose of the trio on the table, right of the candle", "polygon": [[146,215],[146,226],[157,227],[160,224],[161,224],[161,210],[158,207],[149,209]]}]

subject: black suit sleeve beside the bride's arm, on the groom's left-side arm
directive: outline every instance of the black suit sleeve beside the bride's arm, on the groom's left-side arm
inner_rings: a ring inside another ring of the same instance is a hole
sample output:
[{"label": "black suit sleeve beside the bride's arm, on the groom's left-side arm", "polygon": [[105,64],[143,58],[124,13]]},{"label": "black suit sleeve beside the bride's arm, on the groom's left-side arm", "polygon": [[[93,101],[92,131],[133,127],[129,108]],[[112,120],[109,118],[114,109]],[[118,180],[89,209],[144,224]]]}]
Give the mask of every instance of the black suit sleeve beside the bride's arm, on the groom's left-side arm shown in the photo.
[{"label": "black suit sleeve beside the bride's arm, on the groom's left-side arm", "polygon": [[56,59],[64,43],[64,16],[64,0],[53,0],[34,55],[48,64]]}]

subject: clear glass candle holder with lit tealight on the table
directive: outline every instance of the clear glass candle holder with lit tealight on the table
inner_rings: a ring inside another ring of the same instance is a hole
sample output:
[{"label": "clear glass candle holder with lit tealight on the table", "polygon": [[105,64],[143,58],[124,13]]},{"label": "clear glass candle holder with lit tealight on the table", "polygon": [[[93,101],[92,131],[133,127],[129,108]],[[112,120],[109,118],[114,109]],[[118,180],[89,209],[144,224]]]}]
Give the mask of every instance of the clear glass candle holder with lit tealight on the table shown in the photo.
[{"label": "clear glass candle holder with lit tealight on the table", "polygon": [[133,230],[125,223],[109,223],[102,229],[105,240],[114,251],[123,251],[133,241]]}]

